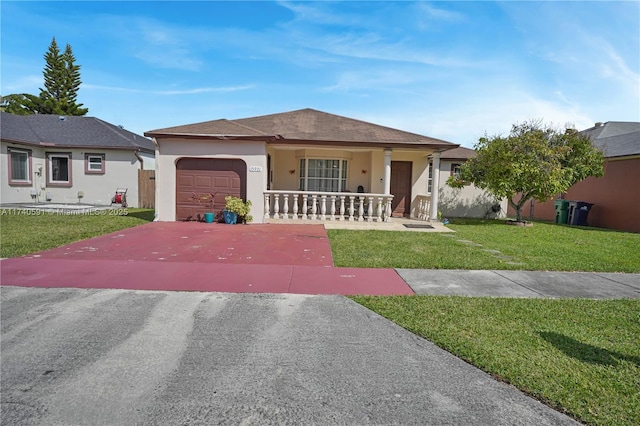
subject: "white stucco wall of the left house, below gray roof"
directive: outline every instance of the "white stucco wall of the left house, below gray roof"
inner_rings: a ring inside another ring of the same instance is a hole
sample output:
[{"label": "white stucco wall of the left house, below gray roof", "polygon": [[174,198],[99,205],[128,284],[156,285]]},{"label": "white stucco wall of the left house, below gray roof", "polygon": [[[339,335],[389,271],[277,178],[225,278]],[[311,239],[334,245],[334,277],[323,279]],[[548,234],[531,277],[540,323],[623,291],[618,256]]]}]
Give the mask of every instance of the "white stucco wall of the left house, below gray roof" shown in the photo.
[{"label": "white stucco wall of the left house, below gray roof", "polygon": [[[13,146],[16,149],[30,149],[32,152],[32,167],[30,186],[9,185],[9,156],[7,147]],[[60,152],[71,153],[71,187],[53,187],[46,184],[46,153]],[[101,153],[105,155],[104,174],[85,173],[85,152]],[[24,147],[19,145],[8,145],[2,143],[0,151],[0,164],[2,164],[2,202],[3,203],[31,203],[34,201],[51,203],[78,203],[94,205],[109,205],[111,198],[116,192],[116,188],[128,188],[127,201],[129,207],[138,206],[138,169],[140,162],[132,151],[117,150],[91,150],[79,149],[58,149],[44,150],[41,148]],[[36,173],[42,168],[40,176]],[[31,189],[35,188],[38,197],[32,198]],[[82,191],[84,197],[78,199],[78,192]],[[47,200],[47,193],[51,199]]]}]

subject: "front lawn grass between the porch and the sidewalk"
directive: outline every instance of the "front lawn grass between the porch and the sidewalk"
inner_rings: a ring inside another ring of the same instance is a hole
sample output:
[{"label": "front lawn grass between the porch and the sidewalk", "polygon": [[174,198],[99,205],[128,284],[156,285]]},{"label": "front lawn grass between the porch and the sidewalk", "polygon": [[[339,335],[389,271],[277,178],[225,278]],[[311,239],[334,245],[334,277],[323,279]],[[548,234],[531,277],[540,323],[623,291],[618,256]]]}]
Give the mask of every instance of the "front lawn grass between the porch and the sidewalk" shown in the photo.
[{"label": "front lawn grass between the porch and the sidewalk", "polygon": [[640,272],[640,234],[503,220],[456,219],[448,226],[455,233],[328,234],[334,263],[342,267]]}]

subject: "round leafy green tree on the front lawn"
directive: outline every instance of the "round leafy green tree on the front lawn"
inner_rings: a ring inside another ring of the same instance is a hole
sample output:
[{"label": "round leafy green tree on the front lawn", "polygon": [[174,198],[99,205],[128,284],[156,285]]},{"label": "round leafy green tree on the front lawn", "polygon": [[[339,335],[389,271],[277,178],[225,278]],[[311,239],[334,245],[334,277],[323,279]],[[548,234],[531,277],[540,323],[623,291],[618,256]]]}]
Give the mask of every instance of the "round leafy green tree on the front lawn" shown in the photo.
[{"label": "round leafy green tree on the front lawn", "polygon": [[482,137],[475,149],[477,155],[462,165],[460,177],[452,176],[447,183],[455,188],[473,183],[506,198],[518,222],[532,198],[547,201],[576,182],[604,173],[603,154],[588,137],[536,121],[513,125],[507,137]]}]

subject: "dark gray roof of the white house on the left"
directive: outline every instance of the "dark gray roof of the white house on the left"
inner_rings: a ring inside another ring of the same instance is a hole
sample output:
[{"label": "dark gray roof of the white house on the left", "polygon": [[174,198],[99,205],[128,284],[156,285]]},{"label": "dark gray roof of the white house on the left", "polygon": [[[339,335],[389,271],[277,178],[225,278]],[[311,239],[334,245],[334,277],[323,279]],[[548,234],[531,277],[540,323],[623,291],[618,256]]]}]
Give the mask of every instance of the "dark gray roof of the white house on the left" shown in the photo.
[{"label": "dark gray roof of the white house on the left", "polygon": [[95,117],[2,112],[0,137],[3,141],[51,148],[155,151],[150,139]]}]

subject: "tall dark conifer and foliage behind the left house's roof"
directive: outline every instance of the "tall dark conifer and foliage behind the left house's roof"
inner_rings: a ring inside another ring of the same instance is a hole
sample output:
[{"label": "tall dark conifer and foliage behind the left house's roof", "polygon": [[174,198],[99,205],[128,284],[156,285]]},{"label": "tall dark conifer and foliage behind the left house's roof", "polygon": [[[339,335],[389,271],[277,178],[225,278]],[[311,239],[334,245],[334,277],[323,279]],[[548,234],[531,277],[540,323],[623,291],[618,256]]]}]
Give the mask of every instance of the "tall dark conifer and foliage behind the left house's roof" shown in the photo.
[{"label": "tall dark conifer and foliage behind the left house's roof", "polygon": [[44,88],[40,95],[12,94],[2,98],[2,109],[18,115],[59,114],[85,115],[89,109],[77,103],[80,66],[69,44],[60,52],[55,37],[44,55]]}]

